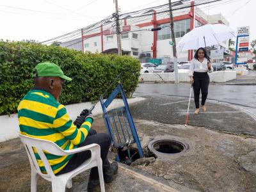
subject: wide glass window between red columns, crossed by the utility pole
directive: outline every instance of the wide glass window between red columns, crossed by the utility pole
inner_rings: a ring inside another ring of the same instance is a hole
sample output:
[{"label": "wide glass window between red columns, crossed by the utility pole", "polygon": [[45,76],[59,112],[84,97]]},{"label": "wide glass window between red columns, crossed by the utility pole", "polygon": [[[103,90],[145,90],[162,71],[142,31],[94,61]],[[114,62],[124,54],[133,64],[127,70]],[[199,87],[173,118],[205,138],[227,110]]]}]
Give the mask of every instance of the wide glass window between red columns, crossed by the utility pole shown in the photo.
[{"label": "wide glass window between red columns, crossed by the utility pole", "polygon": [[[162,29],[157,31],[157,40],[171,38],[170,23],[161,24],[158,27]],[[177,20],[173,23],[175,38],[180,38],[190,31],[190,19]]]}]

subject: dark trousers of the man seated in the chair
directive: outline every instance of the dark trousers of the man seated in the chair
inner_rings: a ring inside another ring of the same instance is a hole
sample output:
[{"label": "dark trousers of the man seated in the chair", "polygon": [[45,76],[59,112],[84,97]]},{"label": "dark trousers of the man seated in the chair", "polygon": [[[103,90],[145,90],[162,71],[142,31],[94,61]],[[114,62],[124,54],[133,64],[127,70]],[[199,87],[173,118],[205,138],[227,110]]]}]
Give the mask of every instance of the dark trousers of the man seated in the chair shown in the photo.
[{"label": "dark trousers of the man seated in the chair", "polygon": [[[100,157],[102,159],[102,167],[103,167],[103,172],[108,170],[110,167],[110,163],[108,161],[108,150],[109,146],[111,144],[111,136],[106,133],[99,133],[93,129],[90,129],[88,136],[85,138],[84,142],[78,145],[78,147],[83,147],[86,145],[90,145],[92,143],[97,143],[100,145]],[[56,175],[60,175],[63,173],[70,172],[74,169],[76,169],[80,164],[82,164],[86,159],[89,159],[91,157],[91,152],[90,150],[86,150],[84,152],[79,152],[75,154],[69,161],[68,164]],[[90,179],[99,179],[99,173],[98,173],[98,168],[93,167],[91,172],[90,172]]]}]

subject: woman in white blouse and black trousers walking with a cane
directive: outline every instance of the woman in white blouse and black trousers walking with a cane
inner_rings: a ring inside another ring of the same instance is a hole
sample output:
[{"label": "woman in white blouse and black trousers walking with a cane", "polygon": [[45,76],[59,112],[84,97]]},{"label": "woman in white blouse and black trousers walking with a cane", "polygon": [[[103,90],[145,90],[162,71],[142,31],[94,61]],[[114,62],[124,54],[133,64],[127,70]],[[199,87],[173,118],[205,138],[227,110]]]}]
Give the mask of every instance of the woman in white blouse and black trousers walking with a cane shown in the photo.
[{"label": "woman in white blouse and black trousers walking with a cane", "polygon": [[202,93],[202,102],[201,106],[203,111],[206,111],[205,108],[205,100],[208,95],[208,86],[210,83],[210,78],[207,72],[212,72],[213,68],[210,62],[209,56],[204,48],[200,47],[197,49],[193,60],[191,60],[191,65],[189,67],[189,77],[190,83],[193,83],[193,90],[194,90],[194,99],[196,110],[195,114],[199,113],[199,96],[200,90]]}]

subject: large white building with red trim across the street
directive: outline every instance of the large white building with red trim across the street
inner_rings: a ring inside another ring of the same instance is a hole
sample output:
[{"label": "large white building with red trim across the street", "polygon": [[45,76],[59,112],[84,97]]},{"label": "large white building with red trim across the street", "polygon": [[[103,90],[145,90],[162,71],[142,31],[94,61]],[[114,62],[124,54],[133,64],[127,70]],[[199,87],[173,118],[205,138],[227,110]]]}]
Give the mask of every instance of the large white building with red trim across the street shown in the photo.
[{"label": "large white building with red trim across the street", "polygon": [[[228,21],[221,14],[207,15],[197,6],[173,12],[175,41],[178,44],[180,38],[191,29],[204,24],[222,23],[229,25]],[[161,10],[163,12],[164,10]],[[158,11],[159,12],[159,11]],[[121,20],[122,31],[122,52],[134,58],[161,58],[172,59],[173,52],[170,42],[170,16],[169,12],[157,13],[151,10],[152,16],[140,17],[139,19],[127,17]],[[149,31],[148,29],[161,27],[159,31]],[[93,32],[83,35],[83,51],[91,52],[117,52],[117,40],[115,29],[111,24],[101,26]],[[70,46],[72,47],[72,46]],[[228,41],[223,42],[212,49],[228,50]],[[179,60],[191,60],[195,53],[190,51],[177,52]]]}]

